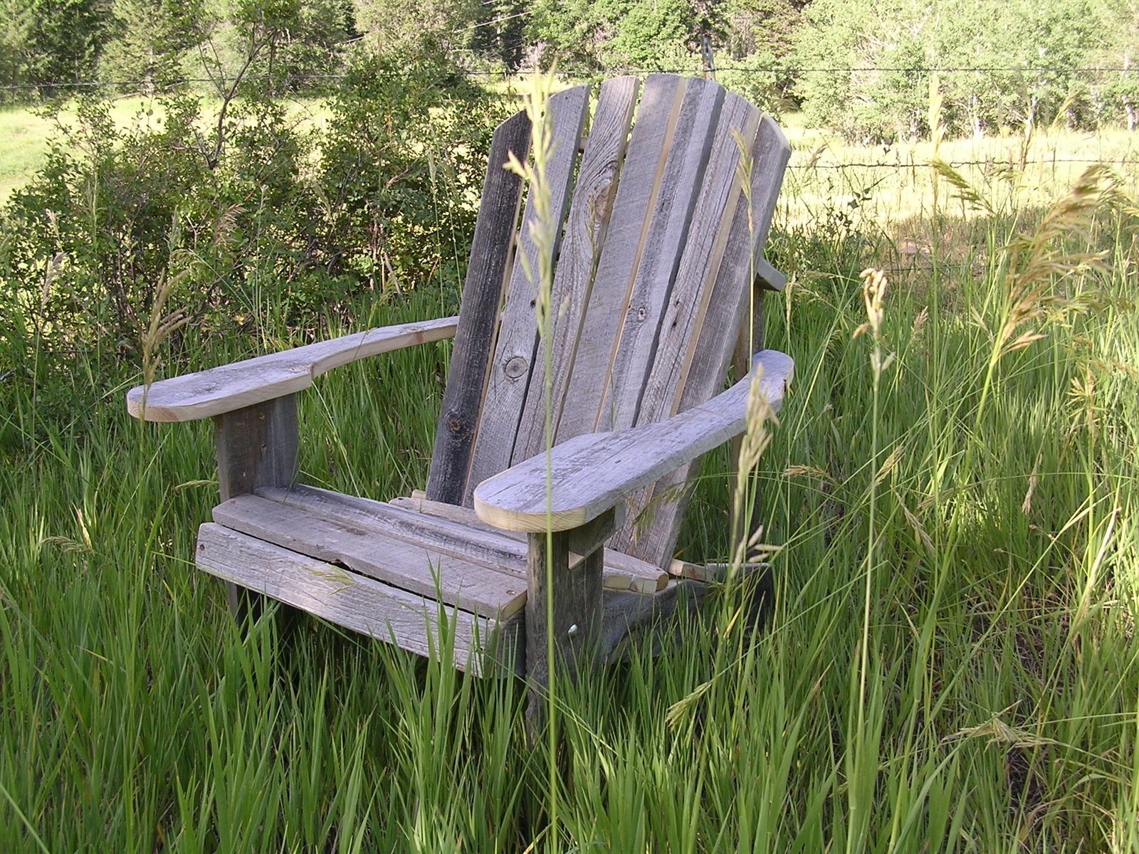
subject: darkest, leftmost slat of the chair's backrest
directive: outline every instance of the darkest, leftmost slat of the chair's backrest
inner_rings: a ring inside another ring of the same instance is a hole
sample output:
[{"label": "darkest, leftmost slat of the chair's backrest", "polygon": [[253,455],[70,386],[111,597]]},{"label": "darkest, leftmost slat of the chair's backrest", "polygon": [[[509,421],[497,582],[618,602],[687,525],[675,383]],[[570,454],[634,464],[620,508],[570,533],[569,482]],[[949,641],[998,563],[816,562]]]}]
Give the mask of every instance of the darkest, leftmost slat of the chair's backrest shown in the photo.
[{"label": "darkest, leftmost slat of the chair's backrest", "polygon": [[511,272],[511,247],[522,202],[522,178],[502,166],[510,154],[525,162],[530,120],[516,113],[494,131],[486,164],[478,220],[462,287],[459,323],[451,351],[451,370],[443,392],[427,493],[434,501],[458,504],[466,494],[470,451],[478,426],[480,403],[494,352],[502,290]]}]

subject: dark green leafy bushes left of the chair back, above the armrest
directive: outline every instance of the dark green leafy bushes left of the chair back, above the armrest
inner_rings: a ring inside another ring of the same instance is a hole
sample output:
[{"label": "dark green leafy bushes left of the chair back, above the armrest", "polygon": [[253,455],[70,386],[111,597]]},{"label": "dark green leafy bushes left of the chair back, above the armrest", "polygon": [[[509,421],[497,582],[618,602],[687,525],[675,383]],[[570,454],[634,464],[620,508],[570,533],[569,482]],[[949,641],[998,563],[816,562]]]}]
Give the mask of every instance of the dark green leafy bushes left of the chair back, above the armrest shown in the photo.
[{"label": "dark green leafy bushes left of the chair back, above the armrest", "polygon": [[216,114],[163,97],[128,128],[81,105],[0,212],[0,370],[42,370],[33,351],[137,367],[159,291],[202,336],[265,311],[310,329],[361,289],[457,281],[500,108],[448,67],[400,67],[358,61],[323,134],[254,87]]}]

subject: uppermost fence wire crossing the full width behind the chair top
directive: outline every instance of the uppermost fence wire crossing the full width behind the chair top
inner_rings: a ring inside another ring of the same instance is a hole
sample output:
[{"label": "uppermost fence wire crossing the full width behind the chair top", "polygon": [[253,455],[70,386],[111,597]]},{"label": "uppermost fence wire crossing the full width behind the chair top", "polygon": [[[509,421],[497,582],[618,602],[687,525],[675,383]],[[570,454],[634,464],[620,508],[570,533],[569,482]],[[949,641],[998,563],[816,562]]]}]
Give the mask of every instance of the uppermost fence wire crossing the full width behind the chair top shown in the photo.
[{"label": "uppermost fence wire crossing the full width behind the chair top", "polygon": [[[749,74],[749,75],[763,75],[763,76],[802,76],[804,74],[1083,74],[1083,75],[1105,75],[1105,74],[1125,74],[1139,76],[1139,66],[794,66],[794,65],[777,65],[769,67],[752,67],[752,66],[716,66],[715,73],[730,72],[735,74]],[[377,71],[377,76],[410,76],[413,75],[415,69],[405,71]],[[696,67],[685,67],[685,68],[612,68],[607,71],[589,71],[589,69],[557,69],[557,75],[567,80],[598,80],[600,77],[611,74],[699,74],[700,69]],[[478,79],[518,79],[518,75],[507,74],[501,71],[493,69],[458,69],[454,72],[457,75],[478,77]],[[200,83],[212,83],[215,85],[232,85],[239,81],[246,82],[279,82],[279,83],[301,83],[301,82],[318,82],[318,81],[335,81],[335,80],[346,80],[350,75],[347,74],[286,74],[279,76],[269,75],[245,75],[243,77],[226,77],[226,76],[195,76],[195,77],[177,77],[170,81],[155,81],[153,79],[142,80],[51,80],[42,82],[26,82],[26,83],[5,83],[0,84],[0,91],[35,91],[35,90],[67,90],[67,89],[155,89],[155,90],[169,90],[188,84],[200,84]],[[448,75],[450,76],[450,75]]]}]

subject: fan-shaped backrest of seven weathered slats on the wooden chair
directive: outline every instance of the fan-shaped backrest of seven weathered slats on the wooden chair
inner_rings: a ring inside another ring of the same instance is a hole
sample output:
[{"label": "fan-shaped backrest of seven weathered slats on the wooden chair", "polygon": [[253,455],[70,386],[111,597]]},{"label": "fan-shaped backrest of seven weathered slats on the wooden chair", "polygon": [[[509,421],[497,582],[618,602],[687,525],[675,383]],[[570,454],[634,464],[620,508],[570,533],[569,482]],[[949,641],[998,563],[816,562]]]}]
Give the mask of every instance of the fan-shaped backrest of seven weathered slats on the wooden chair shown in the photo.
[{"label": "fan-shaped backrest of seven weathered slats on the wooden chair", "polygon": [[[634,120],[636,114],[636,120]],[[723,387],[790,155],[776,123],[718,83],[615,77],[555,95],[546,121],[551,211],[563,228],[551,289],[551,373],[536,288],[534,205],[502,164],[528,156],[524,113],[491,142],[427,496],[470,506],[485,478],[554,443],[667,418]],[[589,122],[588,134],[585,131]],[[580,156],[579,156],[580,155]],[[749,186],[745,186],[745,181]],[[633,496],[611,547],[663,566],[691,467]],[[669,500],[659,500],[667,495]],[[649,507],[645,519],[638,516]],[[648,524],[645,522],[648,520]]]}]

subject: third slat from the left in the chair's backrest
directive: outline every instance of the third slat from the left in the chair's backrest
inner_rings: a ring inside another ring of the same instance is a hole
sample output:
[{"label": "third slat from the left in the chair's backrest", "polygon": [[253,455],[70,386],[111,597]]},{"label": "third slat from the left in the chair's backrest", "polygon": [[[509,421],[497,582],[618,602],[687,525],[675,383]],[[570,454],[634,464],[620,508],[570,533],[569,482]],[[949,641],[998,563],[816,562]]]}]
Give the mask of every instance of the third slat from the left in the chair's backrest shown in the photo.
[{"label": "third slat from the left in the chair's backrest", "polygon": [[[577,351],[585,306],[593,288],[598,255],[605,245],[639,85],[637,77],[614,77],[601,84],[574,186],[554,287],[550,290],[550,305],[554,306],[550,400],[554,402],[551,421],[555,428]],[[544,346],[539,340],[538,368],[526,392],[513,461],[528,459],[546,447]]]}]

